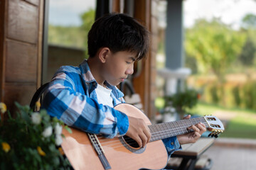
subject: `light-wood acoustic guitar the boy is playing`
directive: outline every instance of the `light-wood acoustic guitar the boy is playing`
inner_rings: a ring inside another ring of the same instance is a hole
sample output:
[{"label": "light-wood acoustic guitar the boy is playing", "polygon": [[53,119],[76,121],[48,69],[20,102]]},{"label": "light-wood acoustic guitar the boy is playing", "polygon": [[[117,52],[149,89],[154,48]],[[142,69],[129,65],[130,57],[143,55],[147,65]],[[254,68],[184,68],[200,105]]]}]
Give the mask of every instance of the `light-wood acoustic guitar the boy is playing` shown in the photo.
[{"label": "light-wood acoustic guitar the boy is playing", "polygon": [[144,119],[151,131],[150,142],[142,148],[127,136],[109,139],[75,128],[71,128],[72,133],[63,129],[65,138],[61,146],[74,169],[163,169],[168,157],[162,139],[190,132],[187,128],[200,122],[212,131],[211,137],[217,137],[224,130],[223,124],[215,116],[151,125],[146,115],[130,104],[122,103],[114,108],[129,116]]}]

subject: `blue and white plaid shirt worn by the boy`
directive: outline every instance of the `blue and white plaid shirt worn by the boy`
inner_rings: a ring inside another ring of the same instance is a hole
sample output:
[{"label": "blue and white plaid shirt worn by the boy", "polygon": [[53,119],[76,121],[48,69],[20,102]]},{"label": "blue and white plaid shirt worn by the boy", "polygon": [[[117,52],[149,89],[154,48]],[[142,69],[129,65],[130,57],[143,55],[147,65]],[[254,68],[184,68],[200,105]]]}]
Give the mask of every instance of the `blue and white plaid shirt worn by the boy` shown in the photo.
[{"label": "blue and white plaid shirt worn by the boy", "polygon": [[[124,103],[124,94],[116,86],[112,89],[113,105]],[[97,103],[97,82],[90,72],[87,60],[79,67],[63,66],[55,73],[43,98],[42,108],[66,125],[105,137],[125,135],[129,128],[127,115],[110,106]],[[179,148],[176,137],[163,140],[171,154]]]}]

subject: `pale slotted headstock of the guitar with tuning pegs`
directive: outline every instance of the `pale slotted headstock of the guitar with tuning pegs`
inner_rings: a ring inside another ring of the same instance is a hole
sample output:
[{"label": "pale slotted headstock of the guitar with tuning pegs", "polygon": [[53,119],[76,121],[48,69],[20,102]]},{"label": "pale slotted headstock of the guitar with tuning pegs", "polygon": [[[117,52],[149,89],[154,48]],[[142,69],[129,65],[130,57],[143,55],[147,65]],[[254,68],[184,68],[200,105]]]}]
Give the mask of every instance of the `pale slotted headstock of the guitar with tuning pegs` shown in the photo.
[{"label": "pale slotted headstock of the guitar with tuning pegs", "polygon": [[221,132],[224,132],[225,128],[223,123],[214,115],[205,115],[203,118],[208,123],[208,130],[212,131],[208,137],[218,137]]}]

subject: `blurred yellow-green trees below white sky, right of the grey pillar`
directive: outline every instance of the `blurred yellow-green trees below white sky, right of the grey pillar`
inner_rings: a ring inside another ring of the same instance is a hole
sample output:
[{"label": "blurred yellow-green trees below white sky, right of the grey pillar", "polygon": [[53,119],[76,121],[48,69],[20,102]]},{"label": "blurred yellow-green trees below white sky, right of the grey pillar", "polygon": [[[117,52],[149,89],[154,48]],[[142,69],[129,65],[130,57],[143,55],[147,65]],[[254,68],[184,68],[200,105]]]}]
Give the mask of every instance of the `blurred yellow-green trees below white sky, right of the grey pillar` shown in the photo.
[{"label": "blurred yellow-green trees below white sky, right of the grey pillar", "polygon": [[186,67],[193,74],[214,73],[220,81],[225,74],[255,71],[256,16],[247,14],[240,30],[219,19],[198,20],[186,30]]}]

